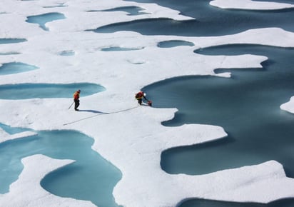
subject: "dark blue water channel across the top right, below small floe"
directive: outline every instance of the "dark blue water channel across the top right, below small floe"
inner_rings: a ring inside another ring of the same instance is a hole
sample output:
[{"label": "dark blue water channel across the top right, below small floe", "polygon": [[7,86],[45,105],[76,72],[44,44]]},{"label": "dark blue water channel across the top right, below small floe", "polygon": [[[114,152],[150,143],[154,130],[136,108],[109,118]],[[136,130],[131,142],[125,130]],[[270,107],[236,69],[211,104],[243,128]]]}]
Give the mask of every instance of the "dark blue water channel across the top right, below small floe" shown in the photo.
[{"label": "dark blue water channel across the top right, below small floe", "polygon": [[[221,36],[237,34],[248,29],[279,27],[294,31],[294,9],[275,11],[243,11],[218,9],[210,6],[211,0],[158,0],[162,6],[181,11],[181,14],[196,18],[188,21],[172,19],[142,19],[125,23],[111,24],[97,28],[96,32],[136,31],[144,35],[179,35],[179,36]],[[292,1],[293,3],[293,1]]]}]

